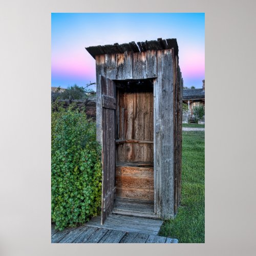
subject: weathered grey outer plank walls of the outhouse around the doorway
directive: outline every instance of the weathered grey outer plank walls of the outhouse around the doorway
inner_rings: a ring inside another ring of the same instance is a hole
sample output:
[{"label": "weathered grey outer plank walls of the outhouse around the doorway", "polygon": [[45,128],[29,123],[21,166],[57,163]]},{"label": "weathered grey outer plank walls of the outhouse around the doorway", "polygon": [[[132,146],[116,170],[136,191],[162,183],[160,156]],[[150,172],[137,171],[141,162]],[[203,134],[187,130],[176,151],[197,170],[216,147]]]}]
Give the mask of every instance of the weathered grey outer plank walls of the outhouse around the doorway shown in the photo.
[{"label": "weathered grey outer plank walls of the outhouse around the doorway", "polygon": [[181,200],[182,77],[175,49],[98,54],[97,140],[102,136],[100,76],[154,80],[154,201],[158,218],[175,217]]}]

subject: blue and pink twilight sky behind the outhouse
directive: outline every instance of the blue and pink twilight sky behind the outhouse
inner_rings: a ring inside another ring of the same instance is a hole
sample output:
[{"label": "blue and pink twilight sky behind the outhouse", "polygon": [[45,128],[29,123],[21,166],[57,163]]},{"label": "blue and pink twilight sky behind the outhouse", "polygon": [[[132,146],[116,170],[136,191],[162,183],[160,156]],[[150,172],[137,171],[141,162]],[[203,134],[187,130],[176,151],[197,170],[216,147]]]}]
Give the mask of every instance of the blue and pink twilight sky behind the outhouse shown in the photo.
[{"label": "blue and pink twilight sky behind the outhouse", "polygon": [[204,13],[52,13],[51,25],[52,87],[96,82],[95,60],[85,47],[161,37],[177,38],[184,86],[202,88]]}]

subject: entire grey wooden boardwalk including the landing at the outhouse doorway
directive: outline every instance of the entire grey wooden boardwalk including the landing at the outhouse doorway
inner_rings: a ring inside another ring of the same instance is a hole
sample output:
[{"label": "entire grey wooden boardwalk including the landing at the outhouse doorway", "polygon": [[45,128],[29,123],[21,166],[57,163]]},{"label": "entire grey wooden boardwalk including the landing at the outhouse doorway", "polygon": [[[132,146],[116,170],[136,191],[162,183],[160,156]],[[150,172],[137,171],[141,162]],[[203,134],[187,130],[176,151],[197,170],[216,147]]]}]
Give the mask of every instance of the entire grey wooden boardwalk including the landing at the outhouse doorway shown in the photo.
[{"label": "entire grey wooden boardwalk including the landing at the outhouse doorway", "polygon": [[95,217],[86,225],[57,231],[52,225],[52,243],[178,243],[157,236],[162,221],[111,214],[100,225]]}]

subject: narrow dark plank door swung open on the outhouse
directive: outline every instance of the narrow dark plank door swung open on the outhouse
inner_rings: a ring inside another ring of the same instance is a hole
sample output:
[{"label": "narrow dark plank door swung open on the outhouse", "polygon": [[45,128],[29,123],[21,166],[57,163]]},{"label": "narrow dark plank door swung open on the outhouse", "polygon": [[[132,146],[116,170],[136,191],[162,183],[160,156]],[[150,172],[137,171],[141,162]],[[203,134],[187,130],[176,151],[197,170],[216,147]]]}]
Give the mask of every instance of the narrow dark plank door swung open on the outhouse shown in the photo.
[{"label": "narrow dark plank door swung open on the outhouse", "polygon": [[101,224],[112,212],[115,195],[115,116],[116,92],[114,81],[101,76],[102,102],[102,200]]}]

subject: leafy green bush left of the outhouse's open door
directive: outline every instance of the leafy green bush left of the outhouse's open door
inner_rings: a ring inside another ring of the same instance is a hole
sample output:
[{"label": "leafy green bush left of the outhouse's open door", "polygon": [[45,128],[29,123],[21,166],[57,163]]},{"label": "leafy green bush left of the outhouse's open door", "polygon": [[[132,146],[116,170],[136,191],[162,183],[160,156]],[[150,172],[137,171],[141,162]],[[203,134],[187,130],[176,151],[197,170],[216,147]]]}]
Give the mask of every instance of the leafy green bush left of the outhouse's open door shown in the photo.
[{"label": "leafy green bush left of the outhouse's open door", "polygon": [[[56,111],[57,110],[57,111]],[[52,222],[59,230],[100,212],[101,149],[86,114],[52,104]]]}]

